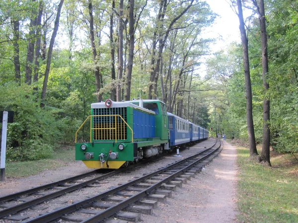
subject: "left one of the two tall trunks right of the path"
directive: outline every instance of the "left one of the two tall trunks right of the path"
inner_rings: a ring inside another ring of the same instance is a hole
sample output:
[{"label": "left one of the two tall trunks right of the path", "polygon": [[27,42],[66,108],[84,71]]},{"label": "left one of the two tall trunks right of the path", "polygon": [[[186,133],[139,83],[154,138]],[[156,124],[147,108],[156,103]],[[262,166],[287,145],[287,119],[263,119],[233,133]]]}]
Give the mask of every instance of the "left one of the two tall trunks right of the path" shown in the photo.
[{"label": "left one of the two tall trunks right of the path", "polygon": [[249,152],[250,156],[258,155],[256,140],[254,134],[254,125],[252,118],[252,93],[251,93],[251,83],[250,83],[250,71],[249,71],[249,57],[248,57],[248,40],[246,37],[243,13],[242,13],[242,3],[241,0],[237,0],[238,5],[238,18],[239,18],[239,29],[241,33],[241,42],[243,48],[243,66],[244,66],[244,79],[245,79],[245,97],[246,97],[246,122],[248,131],[248,141],[249,141]]}]

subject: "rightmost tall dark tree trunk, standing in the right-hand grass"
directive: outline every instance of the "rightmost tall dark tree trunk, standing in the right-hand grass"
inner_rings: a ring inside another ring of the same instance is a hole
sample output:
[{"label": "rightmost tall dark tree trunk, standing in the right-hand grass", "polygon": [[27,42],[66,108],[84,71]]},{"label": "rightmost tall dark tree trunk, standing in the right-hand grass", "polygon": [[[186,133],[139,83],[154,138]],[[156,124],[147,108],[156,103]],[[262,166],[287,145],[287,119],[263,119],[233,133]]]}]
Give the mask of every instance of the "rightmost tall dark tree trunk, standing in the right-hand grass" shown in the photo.
[{"label": "rightmost tall dark tree trunk, standing in the right-hand grass", "polygon": [[261,38],[262,38],[262,79],[264,92],[264,102],[263,102],[263,144],[262,144],[262,153],[261,160],[271,166],[270,163],[270,99],[267,95],[269,90],[269,84],[267,82],[267,76],[269,72],[268,68],[268,53],[267,53],[267,32],[266,32],[266,18],[265,18],[265,7],[264,0],[259,0],[259,21],[261,29]]}]

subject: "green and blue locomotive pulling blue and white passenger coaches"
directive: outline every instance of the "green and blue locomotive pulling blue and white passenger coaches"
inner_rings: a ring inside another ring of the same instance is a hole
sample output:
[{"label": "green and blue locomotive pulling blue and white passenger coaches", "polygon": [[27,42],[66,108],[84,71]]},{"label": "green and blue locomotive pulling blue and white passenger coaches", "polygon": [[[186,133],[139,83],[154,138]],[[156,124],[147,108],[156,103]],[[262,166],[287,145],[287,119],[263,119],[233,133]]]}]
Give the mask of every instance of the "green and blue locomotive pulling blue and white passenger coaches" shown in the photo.
[{"label": "green and blue locomotive pulling blue and white passenger coaches", "polygon": [[[86,125],[88,139],[78,140]],[[91,104],[91,115],[76,131],[75,160],[88,168],[118,169],[208,137],[208,130],[167,112],[160,100],[108,99]]]}]

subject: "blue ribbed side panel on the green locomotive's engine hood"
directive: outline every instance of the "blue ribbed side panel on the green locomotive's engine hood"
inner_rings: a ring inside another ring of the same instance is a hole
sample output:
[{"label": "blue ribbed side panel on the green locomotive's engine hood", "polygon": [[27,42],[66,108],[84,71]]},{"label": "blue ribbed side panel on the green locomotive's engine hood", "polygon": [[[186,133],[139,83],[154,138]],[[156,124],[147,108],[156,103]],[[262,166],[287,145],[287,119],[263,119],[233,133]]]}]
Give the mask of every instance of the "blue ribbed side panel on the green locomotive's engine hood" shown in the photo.
[{"label": "blue ribbed side panel on the green locomotive's engine hood", "polygon": [[155,137],[155,116],[134,110],[134,139]]}]

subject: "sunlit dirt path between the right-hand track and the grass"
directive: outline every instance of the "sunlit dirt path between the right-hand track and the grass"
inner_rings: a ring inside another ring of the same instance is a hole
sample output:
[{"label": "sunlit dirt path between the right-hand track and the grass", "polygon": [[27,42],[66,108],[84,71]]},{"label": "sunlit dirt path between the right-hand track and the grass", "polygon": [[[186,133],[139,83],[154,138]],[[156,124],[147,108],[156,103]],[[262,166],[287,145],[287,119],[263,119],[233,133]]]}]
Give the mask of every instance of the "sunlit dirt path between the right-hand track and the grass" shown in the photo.
[{"label": "sunlit dirt path between the right-hand track and the grass", "polygon": [[213,162],[177,189],[143,223],[234,223],[236,221],[236,148],[224,141]]}]

